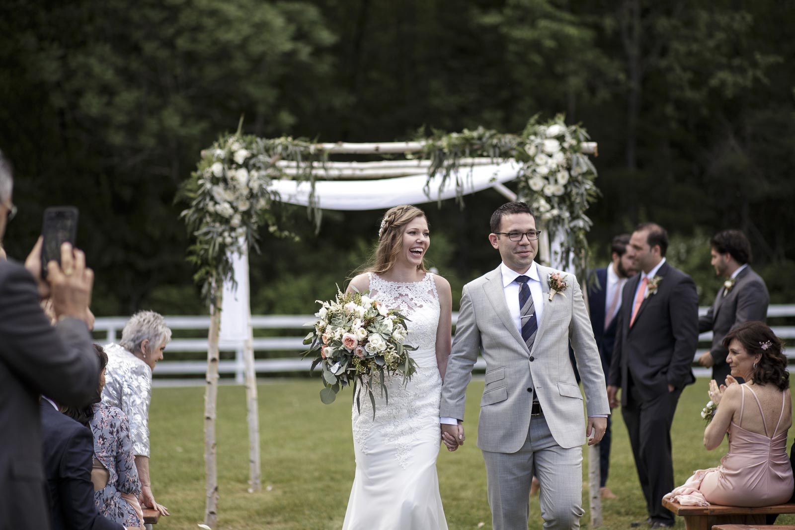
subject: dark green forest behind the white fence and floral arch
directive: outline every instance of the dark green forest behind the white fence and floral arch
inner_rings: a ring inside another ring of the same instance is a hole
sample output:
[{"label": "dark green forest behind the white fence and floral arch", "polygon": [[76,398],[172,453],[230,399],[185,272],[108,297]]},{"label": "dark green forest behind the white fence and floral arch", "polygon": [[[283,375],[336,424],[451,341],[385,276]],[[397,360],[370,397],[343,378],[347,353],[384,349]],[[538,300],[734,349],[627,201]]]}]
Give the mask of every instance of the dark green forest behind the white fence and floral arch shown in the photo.
[{"label": "dark green forest behind the white fence and floral arch", "polygon": [[[45,207],[80,208],[94,310],[206,313],[175,202],[199,153],[243,131],[394,141],[564,112],[599,142],[593,264],[653,220],[700,303],[720,280],[709,237],[739,228],[771,303],[795,303],[795,2],[787,0],[4,0],[0,149],[24,259]],[[425,128],[424,132],[421,129]],[[425,205],[451,280],[494,268],[495,191]],[[262,232],[254,314],[307,313],[366,259],[382,211],[281,207],[299,242]]]}]

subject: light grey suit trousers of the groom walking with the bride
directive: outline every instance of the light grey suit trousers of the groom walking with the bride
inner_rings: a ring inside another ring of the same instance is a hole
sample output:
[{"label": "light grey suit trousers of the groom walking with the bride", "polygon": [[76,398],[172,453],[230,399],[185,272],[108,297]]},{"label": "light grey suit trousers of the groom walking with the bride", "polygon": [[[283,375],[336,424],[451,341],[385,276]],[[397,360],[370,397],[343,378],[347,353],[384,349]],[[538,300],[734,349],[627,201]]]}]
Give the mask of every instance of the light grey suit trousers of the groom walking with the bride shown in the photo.
[{"label": "light grey suit trousers of the groom walking with the bride", "polygon": [[483,451],[494,530],[527,530],[530,482],[541,484],[545,530],[576,530],[583,516],[583,448],[555,442],[544,416],[533,416],[527,439],[515,453]]}]

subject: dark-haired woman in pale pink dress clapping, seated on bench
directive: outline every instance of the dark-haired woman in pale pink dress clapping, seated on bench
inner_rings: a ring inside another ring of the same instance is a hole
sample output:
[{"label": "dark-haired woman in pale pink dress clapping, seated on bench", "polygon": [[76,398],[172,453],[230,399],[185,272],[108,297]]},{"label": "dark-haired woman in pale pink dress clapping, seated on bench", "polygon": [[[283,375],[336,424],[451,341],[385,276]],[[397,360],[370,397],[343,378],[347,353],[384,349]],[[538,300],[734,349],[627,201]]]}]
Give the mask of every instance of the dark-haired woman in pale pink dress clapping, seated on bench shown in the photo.
[{"label": "dark-haired woman in pale pink dress clapping, seated on bench", "polygon": [[[665,496],[682,505],[770,506],[789,501],[793,470],[786,452],[792,425],[787,358],[770,327],[747,322],[723,339],[731,375],[726,385],[709,383],[718,405],[704,431],[712,451],[729,434],[729,452],[720,466],[698,470],[684,486]],[[739,385],[735,377],[743,377]]]}]

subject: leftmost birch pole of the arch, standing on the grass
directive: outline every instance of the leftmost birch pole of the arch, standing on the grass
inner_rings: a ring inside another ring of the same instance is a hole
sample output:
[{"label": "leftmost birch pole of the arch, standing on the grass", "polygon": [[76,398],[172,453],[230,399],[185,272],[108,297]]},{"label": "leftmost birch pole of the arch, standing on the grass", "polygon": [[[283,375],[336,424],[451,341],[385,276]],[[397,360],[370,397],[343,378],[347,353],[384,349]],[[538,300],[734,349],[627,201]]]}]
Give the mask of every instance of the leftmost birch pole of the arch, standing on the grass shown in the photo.
[{"label": "leftmost birch pole of the arch, standing on the grass", "polygon": [[221,329],[223,291],[217,289],[210,306],[210,333],[207,337],[207,387],[204,393],[204,473],[206,507],[204,524],[217,528],[218,524],[218,466],[215,458],[215,405],[218,402],[218,335]]}]

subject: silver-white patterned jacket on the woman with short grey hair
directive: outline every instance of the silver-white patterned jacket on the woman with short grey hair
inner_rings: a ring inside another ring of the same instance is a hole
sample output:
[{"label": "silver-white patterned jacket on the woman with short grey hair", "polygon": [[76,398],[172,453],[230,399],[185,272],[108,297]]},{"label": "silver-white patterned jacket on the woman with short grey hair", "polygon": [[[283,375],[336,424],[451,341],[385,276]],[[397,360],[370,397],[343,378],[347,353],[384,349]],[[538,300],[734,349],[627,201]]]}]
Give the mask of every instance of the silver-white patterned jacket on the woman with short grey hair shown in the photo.
[{"label": "silver-white patterned jacket on the woman with short grey hair", "polygon": [[107,373],[103,403],[122,409],[130,420],[133,453],[149,458],[149,403],[152,369],[118,344],[105,346]]}]

